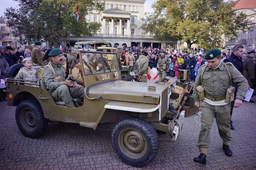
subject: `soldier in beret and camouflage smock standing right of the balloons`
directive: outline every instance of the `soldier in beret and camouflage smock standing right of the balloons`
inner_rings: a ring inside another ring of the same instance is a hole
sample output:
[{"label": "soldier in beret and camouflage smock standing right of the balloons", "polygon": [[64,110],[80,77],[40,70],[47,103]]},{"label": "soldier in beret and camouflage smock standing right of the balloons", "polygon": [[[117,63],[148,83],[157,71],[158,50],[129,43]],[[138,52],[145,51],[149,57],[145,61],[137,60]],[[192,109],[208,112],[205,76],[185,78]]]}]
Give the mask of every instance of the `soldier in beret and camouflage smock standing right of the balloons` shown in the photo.
[{"label": "soldier in beret and camouflage smock standing right of the balloons", "polygon": [[163,79],[169,71],[169,56],[165,55],[165,51],[160,52],[160,57],[157,62],[159,80]]}]

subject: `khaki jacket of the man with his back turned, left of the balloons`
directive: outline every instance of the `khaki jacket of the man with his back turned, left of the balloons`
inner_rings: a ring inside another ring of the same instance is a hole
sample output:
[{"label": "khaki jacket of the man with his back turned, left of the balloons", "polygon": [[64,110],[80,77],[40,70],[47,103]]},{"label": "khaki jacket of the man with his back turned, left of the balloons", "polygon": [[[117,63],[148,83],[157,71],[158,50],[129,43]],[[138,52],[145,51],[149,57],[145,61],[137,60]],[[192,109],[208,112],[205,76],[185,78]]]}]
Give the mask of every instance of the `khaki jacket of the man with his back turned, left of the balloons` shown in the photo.
[{"label": "khaki jacket of the man with his back turned, left of the balloons", "polygon": [[139,59],[137,59],[137,61],[135,62],[133,71],[135,74],[147,75],[147,68],[148,68],[148,57],[141,55]]}]

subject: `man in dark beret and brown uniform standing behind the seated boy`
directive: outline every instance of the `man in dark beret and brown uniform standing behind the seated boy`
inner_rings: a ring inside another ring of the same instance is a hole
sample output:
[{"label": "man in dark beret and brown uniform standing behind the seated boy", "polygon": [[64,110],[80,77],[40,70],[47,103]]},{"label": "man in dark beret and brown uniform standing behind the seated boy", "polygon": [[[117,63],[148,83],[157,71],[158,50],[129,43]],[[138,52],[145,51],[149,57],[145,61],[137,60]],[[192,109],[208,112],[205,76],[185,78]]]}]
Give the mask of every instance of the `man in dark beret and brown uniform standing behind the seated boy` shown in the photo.
[{"label": "man in dark beret and brown uniform standing behind the seated boy", "polygon": [[35,41],[35,47],[31,52],[33,66],[41,66],[43,64],[44,54],[41,51],[42,43]]}]

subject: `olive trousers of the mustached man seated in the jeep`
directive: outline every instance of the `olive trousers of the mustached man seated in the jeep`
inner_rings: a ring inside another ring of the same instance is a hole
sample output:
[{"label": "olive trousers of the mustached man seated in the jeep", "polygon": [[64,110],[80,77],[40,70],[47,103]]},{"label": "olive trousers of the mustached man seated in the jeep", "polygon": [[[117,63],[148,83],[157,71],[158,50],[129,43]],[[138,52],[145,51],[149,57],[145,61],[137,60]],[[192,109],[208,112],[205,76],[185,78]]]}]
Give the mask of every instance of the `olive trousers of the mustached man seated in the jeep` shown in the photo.
[{"label": "olive trousers of the mustached man seated in the jeep", "polygon": [[76,89],[63,84],[54,90],[51,96],[55,102],[63,101],[65,105],[70,105],[74,98],[84,98],[84,87]]}]

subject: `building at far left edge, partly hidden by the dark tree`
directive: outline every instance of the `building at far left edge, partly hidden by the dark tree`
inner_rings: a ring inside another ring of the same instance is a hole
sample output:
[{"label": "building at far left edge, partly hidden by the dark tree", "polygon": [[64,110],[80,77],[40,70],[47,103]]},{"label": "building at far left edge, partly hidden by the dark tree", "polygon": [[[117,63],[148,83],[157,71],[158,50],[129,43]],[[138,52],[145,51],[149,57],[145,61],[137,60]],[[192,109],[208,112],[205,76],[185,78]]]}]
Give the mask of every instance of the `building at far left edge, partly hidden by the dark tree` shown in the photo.
[{"label": "building at far left edge, partly hidden by the dark tree", "polygon": [[19,37],[14,37],[14,35],[11,33],[13,30],[12,28],[7,26],[8,19],[5,17],[0,17],[0,44],[4,47],[6,46],[12,46],[12,47],[21,47],[21,44],[19,43]]}]

